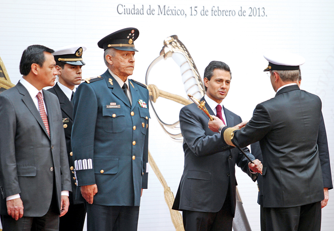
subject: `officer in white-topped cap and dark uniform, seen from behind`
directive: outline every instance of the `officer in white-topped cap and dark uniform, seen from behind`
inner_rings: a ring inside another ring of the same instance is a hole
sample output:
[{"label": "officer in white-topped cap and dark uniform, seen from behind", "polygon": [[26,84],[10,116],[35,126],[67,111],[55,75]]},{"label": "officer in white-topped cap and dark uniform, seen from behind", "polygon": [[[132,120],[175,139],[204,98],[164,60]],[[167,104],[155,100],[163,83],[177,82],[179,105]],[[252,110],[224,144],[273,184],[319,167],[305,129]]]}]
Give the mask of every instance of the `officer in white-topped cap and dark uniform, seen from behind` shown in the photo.
[{"label": "officer in white-topped cap and dark uniform, seen from behind", "polygon": [[[320,230],[324,199],[317,146],[321,100],[297,85],[299,65],[305,62],[302,57],[275,52],[265,58],[275,97],[256,106],[245,128],[222,128],[221,139],[240,147],[260,141],[267,230]],[[212,131],[223,126],[214,119],[209,122]]]}]

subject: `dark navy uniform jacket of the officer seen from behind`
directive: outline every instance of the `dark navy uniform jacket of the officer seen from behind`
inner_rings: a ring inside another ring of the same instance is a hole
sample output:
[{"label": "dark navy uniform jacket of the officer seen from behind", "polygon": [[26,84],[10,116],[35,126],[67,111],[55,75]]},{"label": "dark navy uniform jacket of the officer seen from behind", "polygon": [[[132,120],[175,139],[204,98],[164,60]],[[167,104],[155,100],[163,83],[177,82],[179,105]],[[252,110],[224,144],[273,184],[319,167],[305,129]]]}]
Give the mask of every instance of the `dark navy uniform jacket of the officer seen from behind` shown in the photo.
[{"label": "dark navy uniform jacket of the officer seen from behind", "polygon": [[246,127],[234,132],[232,142],[240,147],[260,141],[264,207],[323,200],[317,146],[320,118],[320,98],[292,85],[258,104]]}]

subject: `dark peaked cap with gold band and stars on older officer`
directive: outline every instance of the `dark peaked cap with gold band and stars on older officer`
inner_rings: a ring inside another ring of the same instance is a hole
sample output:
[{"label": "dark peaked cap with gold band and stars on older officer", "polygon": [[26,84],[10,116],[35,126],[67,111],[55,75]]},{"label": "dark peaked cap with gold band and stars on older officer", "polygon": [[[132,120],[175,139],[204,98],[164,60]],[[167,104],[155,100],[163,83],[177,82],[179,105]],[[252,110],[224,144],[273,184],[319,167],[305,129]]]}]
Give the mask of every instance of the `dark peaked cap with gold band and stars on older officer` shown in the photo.
[{"label": "dark peaked cap with gold band and stars on older officer", "polygon": [[133,27],[125,28],[105,36],[97,43],[97,46],[104,50],[113,47],[121,51],[138,51],[134,44],[138,36],[138,29]]}]

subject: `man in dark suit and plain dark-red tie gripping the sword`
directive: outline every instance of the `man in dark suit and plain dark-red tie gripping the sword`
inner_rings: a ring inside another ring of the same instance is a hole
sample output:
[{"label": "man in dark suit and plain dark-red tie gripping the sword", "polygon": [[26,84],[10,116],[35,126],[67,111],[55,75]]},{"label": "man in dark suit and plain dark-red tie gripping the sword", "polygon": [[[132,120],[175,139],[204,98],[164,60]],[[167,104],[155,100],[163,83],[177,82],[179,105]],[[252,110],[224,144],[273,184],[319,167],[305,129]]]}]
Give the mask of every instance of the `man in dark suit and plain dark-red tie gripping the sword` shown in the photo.
[{"label": "man in dark suit and plain dark-red tie gripping the sword", "polygon": [[[230,89],[231,70],[223,62],[212,61],[204,71],[205,107],[217,114],[229,126],[242,122],[237,114],[222,106]],[[184,170],[173,209],[181,210],[186,231],[232,230],[236,209],[237,164],[255,181],[261,162],[249,160],[237,149],[224,146],[219,133],[207,127],[209,118],[192,103],[180,111],[183,136]],[[247,148],[244,151],[255,158]]]}]

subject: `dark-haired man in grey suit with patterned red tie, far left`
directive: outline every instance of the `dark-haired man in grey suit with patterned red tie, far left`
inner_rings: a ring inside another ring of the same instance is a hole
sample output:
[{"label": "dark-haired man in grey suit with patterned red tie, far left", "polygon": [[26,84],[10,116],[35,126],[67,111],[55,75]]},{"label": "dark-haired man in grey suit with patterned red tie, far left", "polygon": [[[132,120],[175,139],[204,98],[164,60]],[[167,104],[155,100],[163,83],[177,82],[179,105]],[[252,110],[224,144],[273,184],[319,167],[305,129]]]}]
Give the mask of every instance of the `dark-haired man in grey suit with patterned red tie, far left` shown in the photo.
[{"label": "dark-haired man in grey suit with patterned red tie, far left", "polygon": [[53,86],[52,49],[29,46],[20,82],[0,94],[0,182],[4,231],[58,230],[71,190],[61,110]]}]

